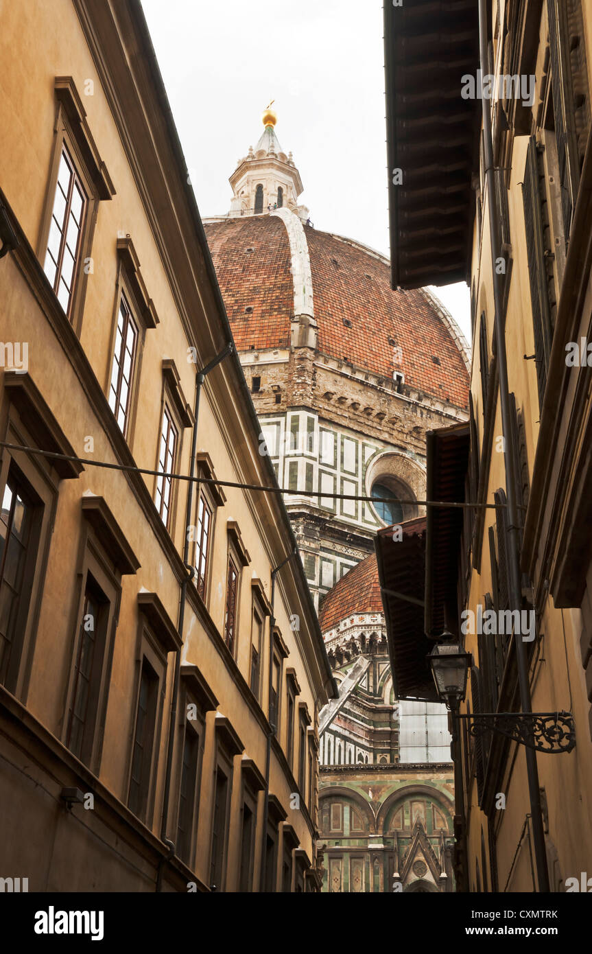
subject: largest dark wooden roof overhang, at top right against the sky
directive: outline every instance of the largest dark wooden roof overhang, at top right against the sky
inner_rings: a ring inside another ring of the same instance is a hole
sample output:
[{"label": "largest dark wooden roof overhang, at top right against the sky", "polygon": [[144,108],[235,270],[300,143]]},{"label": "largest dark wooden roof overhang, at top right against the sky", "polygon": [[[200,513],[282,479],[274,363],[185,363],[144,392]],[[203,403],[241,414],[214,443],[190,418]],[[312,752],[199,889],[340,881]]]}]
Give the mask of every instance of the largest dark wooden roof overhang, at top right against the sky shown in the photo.
[{"label": "largest dark wooden roof overhang, at top right against the sky", "polygon": [[464,74],[477,83],[477,0],[385,2],[384,53],[392,286],[466,281],[481,102],[460,93]]}]

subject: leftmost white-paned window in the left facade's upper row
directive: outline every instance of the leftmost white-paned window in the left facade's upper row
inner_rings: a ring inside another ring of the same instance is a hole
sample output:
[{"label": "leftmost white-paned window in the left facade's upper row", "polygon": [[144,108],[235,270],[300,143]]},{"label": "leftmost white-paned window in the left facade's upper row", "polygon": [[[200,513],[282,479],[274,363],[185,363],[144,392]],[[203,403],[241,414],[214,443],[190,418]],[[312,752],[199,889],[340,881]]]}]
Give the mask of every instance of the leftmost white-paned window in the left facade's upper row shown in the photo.
[{"label": "leftmost white-paned window in the left facade's upper row", "polygon": [[43,269],[67,315],[70,315],[71,295],[79,265],[87,202],[87,194],[70,153],[63,145]]}]

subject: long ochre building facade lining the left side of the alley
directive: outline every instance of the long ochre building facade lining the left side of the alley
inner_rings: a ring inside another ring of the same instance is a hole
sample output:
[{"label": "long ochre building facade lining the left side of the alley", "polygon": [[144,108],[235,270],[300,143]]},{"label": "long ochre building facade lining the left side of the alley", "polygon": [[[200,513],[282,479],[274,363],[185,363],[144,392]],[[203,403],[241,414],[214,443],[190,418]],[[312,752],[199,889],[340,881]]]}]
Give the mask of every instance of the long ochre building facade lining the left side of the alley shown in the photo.
[{"label": "long ochre building facade lining the left side of the alley", "polygon": [[0,20],[0,875],[317,890],[335,684],[140,4]]}]

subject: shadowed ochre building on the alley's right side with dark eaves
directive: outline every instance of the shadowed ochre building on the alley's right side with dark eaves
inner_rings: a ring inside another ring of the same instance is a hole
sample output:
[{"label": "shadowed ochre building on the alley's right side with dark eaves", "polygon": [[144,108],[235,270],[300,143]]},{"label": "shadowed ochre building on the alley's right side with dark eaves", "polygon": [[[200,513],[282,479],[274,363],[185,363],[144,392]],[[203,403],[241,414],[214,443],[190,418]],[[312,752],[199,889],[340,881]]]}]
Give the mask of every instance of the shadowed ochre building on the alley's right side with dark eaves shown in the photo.
[{"label": "shadowed ochre building on the alley's right side with dark eaves", "polygon": [[[426,698],[426,633],[449,631],[472,655],[453,716],[462,888],[580,890],[592,858],[592,15],[580,0],[494,0],[439,16],[421,0],[385,6],[389,166],[402,170],[392,278],[471,289],[469,421],[428,434],[427,487],[430,499],[480,506],[433,508],[415,551],[408,535],[410,559],[425,560],[425,614],[413,641],[393,615],[393,652],[407,660],[407,691]],[[524,700],[566,714],[555,737],[533,733]],[[474,735],[481,714],[492,728],[498,714],[506,734]],[[530,764],[521,732],[538,746]]]}]

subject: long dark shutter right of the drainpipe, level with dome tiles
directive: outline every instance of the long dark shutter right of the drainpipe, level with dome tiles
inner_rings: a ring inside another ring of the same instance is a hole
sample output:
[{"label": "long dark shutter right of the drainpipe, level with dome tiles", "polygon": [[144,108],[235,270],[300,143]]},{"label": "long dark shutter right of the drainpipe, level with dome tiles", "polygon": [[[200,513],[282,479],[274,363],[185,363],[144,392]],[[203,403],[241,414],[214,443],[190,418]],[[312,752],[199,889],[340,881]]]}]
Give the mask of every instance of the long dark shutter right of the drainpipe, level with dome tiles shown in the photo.
[{"label": "long dark shutter right of the drainpipe, level with dome tiles", "polygon": [[541,196],[539,193],[539,156],[534,135],[531,135],[528,141],[526,167],[522,183],[522,201],[524,204],[528,278],[530,280],[530,301],[532,303],[532,321],[535,335],[539,405],[542,406],[544,388],[547,382],[547,365],[551,353],[552,331],[544,263]]}]

